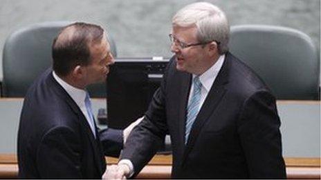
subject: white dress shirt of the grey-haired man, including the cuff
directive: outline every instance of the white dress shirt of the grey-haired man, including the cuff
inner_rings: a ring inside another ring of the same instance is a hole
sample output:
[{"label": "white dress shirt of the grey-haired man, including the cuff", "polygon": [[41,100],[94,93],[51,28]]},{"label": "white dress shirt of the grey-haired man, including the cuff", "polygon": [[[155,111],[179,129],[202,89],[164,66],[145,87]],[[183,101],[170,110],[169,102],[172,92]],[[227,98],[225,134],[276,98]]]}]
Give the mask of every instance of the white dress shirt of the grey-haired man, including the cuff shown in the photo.
[{"label": "white dress shirt of the grey-haired man, including the cuff", "polygon": [[[199,76],[199,80],[201,81],[202,87],[201,87],[201,100],[200,100],[200,106],[199,110],[201,109],[201,106],[203,106],[203,103],[205,101],[205,98],[208,96],[208,92],[210,92],[210,88],[212,87],[212,84],[214,83],[215,79],[217,78],[217,74],[219,74],[219,70],[221,70],[223,63],[225,61],[225,54],[221,55],[219,59],[217,60],[214,65],[206,70],[203,74]],[[193,78],[196,77],[195,74],[193,74]],[[190,96],[189,100],[192,97],[192,92],[194,90],[194,84],[191,83],[190,88]],[[199,111],[198,110],[198,111]],[[118,162],[118,165],[125,164],[129,168],[129,177],[131,177],[134,174],[134,166],[133,163],[129,159],[122,159]]]}]

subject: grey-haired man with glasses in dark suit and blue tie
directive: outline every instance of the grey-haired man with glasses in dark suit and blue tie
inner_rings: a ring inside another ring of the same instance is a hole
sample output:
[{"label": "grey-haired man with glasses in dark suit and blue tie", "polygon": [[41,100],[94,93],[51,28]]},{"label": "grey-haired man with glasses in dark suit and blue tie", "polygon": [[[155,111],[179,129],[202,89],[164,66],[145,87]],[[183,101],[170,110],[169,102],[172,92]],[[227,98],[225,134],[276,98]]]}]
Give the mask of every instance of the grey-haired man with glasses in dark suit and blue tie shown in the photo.
[{"label": "grey-haired man with glasses in dark suit and blue tie", "polygon": [[228,52],[226,15],[192,3],[172,19],[174,57],[118,166],[106,178],[138,174],[168,132],[175,179],[283,179],[275,97]]}]

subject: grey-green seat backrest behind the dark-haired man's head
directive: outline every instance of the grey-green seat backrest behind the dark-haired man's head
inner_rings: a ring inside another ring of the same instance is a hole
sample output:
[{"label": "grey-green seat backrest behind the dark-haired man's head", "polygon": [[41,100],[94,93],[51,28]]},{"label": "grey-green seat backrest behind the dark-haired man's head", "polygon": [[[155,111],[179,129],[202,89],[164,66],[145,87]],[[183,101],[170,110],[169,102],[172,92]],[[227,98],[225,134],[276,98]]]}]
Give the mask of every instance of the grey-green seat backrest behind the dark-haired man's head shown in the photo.
[{"label": "grey-green seat backrest behind the dark-haired man's head", "polygon": [[[21,28],[6,39],[3,48],[3,97],[24,97],[36,77],[52,65],[53,39],[70,21],[37,23]],[[116,46],[111,37],[111,52]],[[91,97],[106,97],[106,84],[90,86]]]}]

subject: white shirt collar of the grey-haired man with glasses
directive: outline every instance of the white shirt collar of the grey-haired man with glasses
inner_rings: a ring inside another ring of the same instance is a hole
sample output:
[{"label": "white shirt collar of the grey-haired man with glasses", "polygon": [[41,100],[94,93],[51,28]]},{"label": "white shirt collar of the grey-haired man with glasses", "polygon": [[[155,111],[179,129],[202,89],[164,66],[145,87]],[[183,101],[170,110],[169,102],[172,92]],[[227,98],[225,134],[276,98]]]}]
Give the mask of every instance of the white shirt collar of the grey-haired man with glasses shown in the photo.
[{"label": "white shirt collar of the grey-haired man with glasses", "polygon": [[[217,74],[219,74],[219,70],[221,70],[221,67],[223,66],[225,57],[226,55],[222,54],[219,57],[219,59],[217,59],[217,62],[214,63],[212,67],[210,67],[210,69],[206,70],[203,74],[199,76],[199,81],[201,81],[202,86],[205,88],[207,92],[210,91],[212,84],[217,78]],[[193,78],[194,77],[196,77],[195,74],[193,74]]]}]

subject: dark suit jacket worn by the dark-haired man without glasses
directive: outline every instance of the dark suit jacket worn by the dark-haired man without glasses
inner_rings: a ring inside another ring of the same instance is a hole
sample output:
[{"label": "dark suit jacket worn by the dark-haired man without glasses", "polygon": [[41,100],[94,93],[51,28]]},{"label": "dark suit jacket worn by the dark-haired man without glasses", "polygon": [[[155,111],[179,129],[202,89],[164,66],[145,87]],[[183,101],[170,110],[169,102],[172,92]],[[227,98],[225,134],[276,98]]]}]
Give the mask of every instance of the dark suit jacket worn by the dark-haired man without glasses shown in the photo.
[{"label": "dark suit jacket worn by the dark-haired man without glasses", "polygon": [[104,130],[93,137],[84,114],[48,69],[24,99],[18,132],[19,178],[101,179],[106,161],[100,139],[109,152],[122,148],[122,130]]}]

